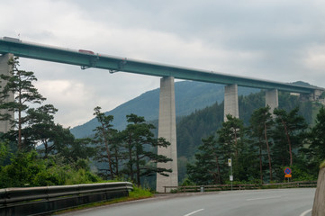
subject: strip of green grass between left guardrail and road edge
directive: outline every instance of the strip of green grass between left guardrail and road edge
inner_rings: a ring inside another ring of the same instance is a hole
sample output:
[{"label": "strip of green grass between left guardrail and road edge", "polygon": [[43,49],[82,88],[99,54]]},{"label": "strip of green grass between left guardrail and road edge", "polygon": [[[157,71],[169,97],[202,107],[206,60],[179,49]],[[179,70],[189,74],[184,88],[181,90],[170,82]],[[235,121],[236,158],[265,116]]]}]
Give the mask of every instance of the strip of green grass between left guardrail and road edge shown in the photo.
[{"label": "strip of green grass between left guardrail and road edge", "polygon": [[141,200],[141,199],[147,199],[152,197],[153,194],[149,191],[149,189],[141,188],[138,186],[133,186],[133,191],[129,193],[129,196],[121,197],[121,198],[116,198],[110,201],[104,201],[104,202],[92,202],[88,203],[85,205],[80,205],[74,208],[70,208],[68,210],[63,210],[63,211],[56,211],[52,213],[52,215],[57,215],[57,214],[63,214],[63,213],[68,213],[72,211],[79,211],[79,210],[84,210],[84,209],[89,209],[89,208],[95,208],[98,206],[103,206],[103,205],[110,205],[114,203],[120,203],[120,202],[130,202],[130,201],[135,201],[135,200]]}]

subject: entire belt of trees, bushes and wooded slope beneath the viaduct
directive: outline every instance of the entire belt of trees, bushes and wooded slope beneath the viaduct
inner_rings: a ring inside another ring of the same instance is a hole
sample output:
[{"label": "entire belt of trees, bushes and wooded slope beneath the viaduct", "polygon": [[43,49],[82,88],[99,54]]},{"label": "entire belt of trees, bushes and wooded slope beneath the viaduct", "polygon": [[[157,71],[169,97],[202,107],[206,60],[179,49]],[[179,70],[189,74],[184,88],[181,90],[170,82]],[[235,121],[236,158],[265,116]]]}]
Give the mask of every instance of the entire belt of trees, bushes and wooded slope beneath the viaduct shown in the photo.
[{"label": "entire belt of trees, bushes and wooded slope beneath the viaduct", "polygon": [[[125,129],[115,130],[113,115],[97,106],[94,134],[76,139],[54,122],[58,110],[44,104],[33,72],[19,69],[18,58],[9,64],[10,76],[1,75],[0,110],[7,112],[0,121],[12,128],[0,134],[0,188],[107,180],[154,187],[156,175],[172,172],[157,167],[171,159],[157,154],[170,143],[155,136],[155,122],[130,113]],[[10,94],[14,102],[7,102]],[[240,119],[229,115],[223,122],[223,103],[178,118],[179,184],[227,183],[229,158],[236,182],[282,182],[286,166],[293,181],[316,179],[325,156],[325,110],[287,93],[279,94],[279,103],[271,113],[260,92],[239,97]]]}]

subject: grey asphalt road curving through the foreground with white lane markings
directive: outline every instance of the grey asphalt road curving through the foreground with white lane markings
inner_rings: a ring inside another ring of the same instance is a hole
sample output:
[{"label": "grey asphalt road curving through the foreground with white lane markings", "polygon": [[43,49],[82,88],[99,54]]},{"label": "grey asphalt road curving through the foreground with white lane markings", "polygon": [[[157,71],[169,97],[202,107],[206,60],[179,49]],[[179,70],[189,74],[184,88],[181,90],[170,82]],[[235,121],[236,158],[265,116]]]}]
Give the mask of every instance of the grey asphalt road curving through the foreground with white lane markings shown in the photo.
[{"label": "grey asphalt road curving through the foreground with white lane markings", "polygon": [[135,202],[123,202],[64,215],[95,216],[277,216],[311,215],[315,189],[274,189],[220,193],[158,195]]}]

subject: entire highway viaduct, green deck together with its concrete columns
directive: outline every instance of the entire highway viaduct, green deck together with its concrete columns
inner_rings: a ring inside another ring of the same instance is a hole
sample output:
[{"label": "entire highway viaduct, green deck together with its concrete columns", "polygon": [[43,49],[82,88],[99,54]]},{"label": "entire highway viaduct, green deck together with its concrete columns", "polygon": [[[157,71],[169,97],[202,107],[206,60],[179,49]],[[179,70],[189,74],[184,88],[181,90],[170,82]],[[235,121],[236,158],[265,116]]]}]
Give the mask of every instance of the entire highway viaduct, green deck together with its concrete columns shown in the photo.
[{"label": "entire highway viaduct, green deck together with its concrete columns", "polygon": [[[225,85],[224,95],[224,119],[231,114],[239,118],[238,86],[254,87],[266,90],[266,105],[271,110],[278,106],[278,91],[303,94],[309,100],[316,101],[324,88],[316,86],[291,85],[275,81],[256,79],[245,76],[230,76],[213,71],[194,69],[188,67],[176,67],[153,62],[120,58],[102,55],[84,49],[63,49],[46,46],[22,40],[4,37],[0,39],[0,73],[8,74],[8,59],[17,56],[22,58],[34,58],[45,61],[58,62],[80,66],[107,69],[111,73],[129,72],[134,74],[159,76],[160,98],[158,117],[158,137],[163,137],[171,143],[168,148],[158,148],[158,154],[173,159],[167,164],[158,164],[159,167],[171,168],[173,172],[169,176],[157,175],[157,191],[164,192],[163,186],[175,186],[177,178],[177,153],[176,153],[176,110],[174,79],[194,80],[207,83]],[[14,95],[8,100],[14,100]],[[0,130],[9,130],[9,123],[0,122]]]}]

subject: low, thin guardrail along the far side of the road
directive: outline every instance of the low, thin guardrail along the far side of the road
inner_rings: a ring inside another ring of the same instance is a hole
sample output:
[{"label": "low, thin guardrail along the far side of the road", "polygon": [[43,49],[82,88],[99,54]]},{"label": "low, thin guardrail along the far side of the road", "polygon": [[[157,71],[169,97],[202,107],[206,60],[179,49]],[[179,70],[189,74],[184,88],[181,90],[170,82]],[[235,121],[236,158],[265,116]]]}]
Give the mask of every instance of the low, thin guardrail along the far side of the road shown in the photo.
[{"label": "low, thin guardrail along the far side of the road", "polygon": [[[232,184],[232,190],[253,190],[267,188],[294,188],[294,187],[316,187],[317,182],[290,182],[274,184]],[[165,186],[165,193],[186,193],[186,192],[212,192],[212,191],[230,191],[231,184],[215,185],[188,185],[188,186]]]}]

